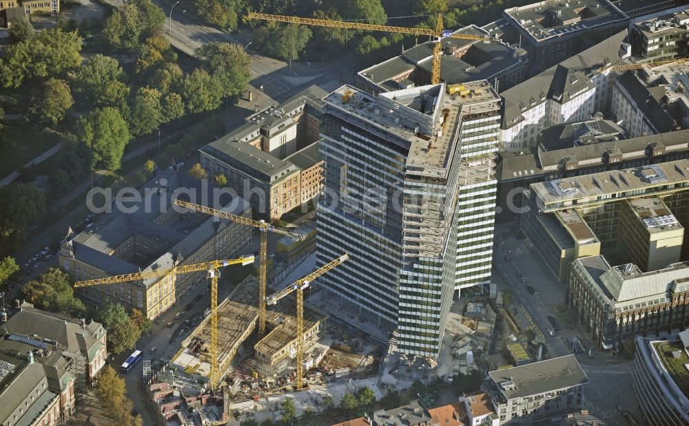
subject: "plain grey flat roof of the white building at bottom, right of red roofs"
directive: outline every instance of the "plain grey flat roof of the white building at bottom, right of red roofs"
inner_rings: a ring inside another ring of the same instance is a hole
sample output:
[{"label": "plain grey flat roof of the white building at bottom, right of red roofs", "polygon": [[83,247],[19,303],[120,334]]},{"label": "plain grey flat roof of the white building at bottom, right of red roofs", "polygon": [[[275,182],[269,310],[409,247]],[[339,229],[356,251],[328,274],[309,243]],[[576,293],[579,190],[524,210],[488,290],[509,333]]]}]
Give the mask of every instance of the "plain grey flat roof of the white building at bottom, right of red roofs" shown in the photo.
[{"label": "plain grey flat roof of the white building at bottom, right of red roofs", "polygon": [[574,355],[489,372],[507,399],[585,385],[588,377]]}]

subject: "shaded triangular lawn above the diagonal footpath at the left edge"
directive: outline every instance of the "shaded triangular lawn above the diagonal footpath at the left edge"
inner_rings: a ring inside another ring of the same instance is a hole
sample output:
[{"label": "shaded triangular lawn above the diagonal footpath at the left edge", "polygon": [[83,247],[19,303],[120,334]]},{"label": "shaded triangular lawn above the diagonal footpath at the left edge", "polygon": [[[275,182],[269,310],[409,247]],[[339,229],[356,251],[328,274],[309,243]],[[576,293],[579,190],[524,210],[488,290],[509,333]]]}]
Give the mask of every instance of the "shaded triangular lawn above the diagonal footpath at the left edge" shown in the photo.
[{"label": "shaded triangular lawn above the diagonal footpath at the left edge", "polygon": [[0,130],[0,177],[20,169],[60,142],[61,136],[34,125],[6,126]]}]

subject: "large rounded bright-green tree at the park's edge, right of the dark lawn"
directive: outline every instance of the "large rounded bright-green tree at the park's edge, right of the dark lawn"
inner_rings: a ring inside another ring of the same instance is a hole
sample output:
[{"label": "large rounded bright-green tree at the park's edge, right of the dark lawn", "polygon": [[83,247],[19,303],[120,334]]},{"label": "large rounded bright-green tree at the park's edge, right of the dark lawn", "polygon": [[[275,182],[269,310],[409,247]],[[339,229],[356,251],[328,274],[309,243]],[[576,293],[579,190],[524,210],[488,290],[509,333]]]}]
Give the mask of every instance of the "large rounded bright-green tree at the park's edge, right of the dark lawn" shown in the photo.
[{"label": "large rounded bright-green tree at the park's edge, right of the dark lawn", "polygon": [[77,126],[79,140],[92,151],[91,167],[110,171],[120,168],[125,145],[132,136],[117,109],[96,109],[82,117]]}]

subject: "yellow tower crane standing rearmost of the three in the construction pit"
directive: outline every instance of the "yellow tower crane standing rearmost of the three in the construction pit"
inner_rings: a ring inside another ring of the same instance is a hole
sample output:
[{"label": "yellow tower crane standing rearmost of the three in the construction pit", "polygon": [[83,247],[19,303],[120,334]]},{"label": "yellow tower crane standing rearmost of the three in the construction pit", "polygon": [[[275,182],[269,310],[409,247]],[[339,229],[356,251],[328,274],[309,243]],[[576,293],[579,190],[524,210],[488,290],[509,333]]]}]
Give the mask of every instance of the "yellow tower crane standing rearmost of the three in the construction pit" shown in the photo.
[{"label": "yellow tower crane standing rearmost of the three in the construction pit", "polygon": [[237,222],[238,224],[258,228],[258,231],[260,231],[260,250],[258,255],[260,258],[260,265],[258,266],[258,332],[263,335],[265,333],[265,287],[267,282],[266,262],[268,259],[268,231],[278,233],[280,235],[287,235],[298,240],[304,239],[305,236],[300,233],[287,231],[287,229],[284,228],[278,228],[277,226],[273,226],[268,222],[265,222],[265,220],[253,220],[250,217],[233,215],[225,211],[201,206],[200,204],[193,204],[182,200],[174,200],[174,204],[184,207],[185,209],[200,211],[201,213],[222,217],[223,219],[231,220],[232,222]]}]

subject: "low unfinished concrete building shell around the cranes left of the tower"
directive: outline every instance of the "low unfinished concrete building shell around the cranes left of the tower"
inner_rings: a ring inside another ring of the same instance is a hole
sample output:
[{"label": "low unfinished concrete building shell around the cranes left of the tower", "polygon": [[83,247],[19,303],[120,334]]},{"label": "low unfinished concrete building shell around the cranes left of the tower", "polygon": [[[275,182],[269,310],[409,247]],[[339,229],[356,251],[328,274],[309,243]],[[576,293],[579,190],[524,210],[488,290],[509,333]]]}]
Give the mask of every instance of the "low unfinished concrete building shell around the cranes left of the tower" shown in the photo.
[{"label": "low unfinished concrete building shell around the cranes left of the tower", "polygon": [[[231,370],[240,347],[249,341],[258,321],[258,280],[247,277],[218,306],[218,368],[220,376]],[[267,312],[267,334],[254,345],[254,358],[249,365],[260,376],[273,376],[294,368],[296,357],[296,308],[294,300],[285,297]],[[305,368],[318,360],[309,352],[318,343],[322,323],[327,315],[305,309]],[[210,317],[206,317],[172,358],[172,364],[190,375],[207,377],[210,372]]]}]

